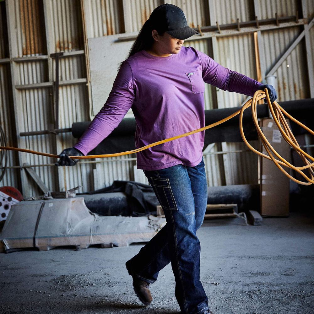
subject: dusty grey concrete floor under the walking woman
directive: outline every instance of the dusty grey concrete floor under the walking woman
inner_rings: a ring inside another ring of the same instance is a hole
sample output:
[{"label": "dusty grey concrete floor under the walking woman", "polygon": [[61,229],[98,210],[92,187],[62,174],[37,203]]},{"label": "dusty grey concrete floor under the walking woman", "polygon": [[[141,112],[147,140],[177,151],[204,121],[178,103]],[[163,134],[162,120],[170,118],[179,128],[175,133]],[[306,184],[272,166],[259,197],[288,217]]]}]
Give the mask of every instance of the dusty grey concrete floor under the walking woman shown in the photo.
[{"label": "dusty grey concrete floor under the walking woman", "polygon": [[[314,216],[207,220],[201,280],[215,314],[314,313]],[[0,313],[180,313],[171,266],[143,307],[124,263],[143,244],[0,254]],[[214,284],[216,283],[216,284]]]}]

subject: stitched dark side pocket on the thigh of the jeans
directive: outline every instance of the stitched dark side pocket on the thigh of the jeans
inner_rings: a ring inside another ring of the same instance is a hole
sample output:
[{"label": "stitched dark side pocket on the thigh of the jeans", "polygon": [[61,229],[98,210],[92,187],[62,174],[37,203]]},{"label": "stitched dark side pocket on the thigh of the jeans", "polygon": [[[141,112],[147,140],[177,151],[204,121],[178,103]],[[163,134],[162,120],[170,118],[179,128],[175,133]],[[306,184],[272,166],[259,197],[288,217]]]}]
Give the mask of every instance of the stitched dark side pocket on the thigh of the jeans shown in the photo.
[{"label": "stitched dark side pocket on the thigh of the jeans", "polygon": [[162,208],[177,210],[175,198],[173,196],[169,179],[150,177],[152,187]]}]

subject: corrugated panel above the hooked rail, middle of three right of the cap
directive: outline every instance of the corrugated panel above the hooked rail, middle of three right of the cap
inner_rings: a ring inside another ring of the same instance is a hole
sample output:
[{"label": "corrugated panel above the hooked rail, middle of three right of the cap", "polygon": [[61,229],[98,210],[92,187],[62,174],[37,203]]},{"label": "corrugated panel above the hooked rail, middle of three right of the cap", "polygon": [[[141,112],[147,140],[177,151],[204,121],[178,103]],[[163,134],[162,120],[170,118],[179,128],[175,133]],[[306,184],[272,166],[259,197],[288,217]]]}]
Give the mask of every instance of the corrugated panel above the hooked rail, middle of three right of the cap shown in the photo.
[{"label": "corrugated panel above the hooked rail, middle of three right of the cap", "polygon": [[252,20],[253,1],[251,0],[210,0],[209,10],[211,11],[211,25],[236,23]]}]

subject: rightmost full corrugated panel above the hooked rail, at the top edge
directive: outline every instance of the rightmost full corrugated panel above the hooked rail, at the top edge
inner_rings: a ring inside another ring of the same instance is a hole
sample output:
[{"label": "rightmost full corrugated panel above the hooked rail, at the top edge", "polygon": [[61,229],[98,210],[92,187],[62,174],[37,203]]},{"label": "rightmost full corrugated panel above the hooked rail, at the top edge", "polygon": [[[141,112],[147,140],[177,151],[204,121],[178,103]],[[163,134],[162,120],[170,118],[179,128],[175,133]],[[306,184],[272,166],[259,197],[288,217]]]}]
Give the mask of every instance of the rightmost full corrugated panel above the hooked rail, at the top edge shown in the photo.
[{"label": "rightmost full corrugated panel above the hooked rail, at the top edge", "polygon": [[259,19],[272,19],[277,13],[278,17],[295,15],[298,9],[297,0],[260,0]]}]

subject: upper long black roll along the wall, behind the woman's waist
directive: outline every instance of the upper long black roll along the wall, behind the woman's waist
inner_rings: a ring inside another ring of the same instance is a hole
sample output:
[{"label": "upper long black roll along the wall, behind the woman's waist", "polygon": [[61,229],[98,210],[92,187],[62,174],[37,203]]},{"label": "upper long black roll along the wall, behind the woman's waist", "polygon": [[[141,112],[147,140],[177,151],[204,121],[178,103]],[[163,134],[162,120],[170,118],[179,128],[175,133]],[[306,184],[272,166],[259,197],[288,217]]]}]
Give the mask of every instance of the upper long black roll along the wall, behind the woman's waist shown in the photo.
[{"label": "upper long black roll along the wall, behind the woman's waist", "polygon": [[[291,100],[279,102],[279,105],[290,113],[297,120],[305,124],[307,127],[314,129],[314,98]],[[205,110],[205,125],[217,122],[226,116],[239,110],[241,107]],[[268,117],[267,105],[257,106],[257,117]],[[257,132],[252,121],[252,114],[250,108],[244,111],[243,115],[243,129],[248,140],[256,140]],[[291,123],[291,129],[294,135],[306,133],[306,131],[294,122]],[[79,138],[82,136],[90,122],[75,122],[72,125],[73,137]],[[112,133],[105,138],[95,149],[89,152],[92,154],[114,154],[122,151],[135,149],[134,134],[136,123],[134,118],[123,119],[122,122],[112,131]],[[192,130],[191,130],[192,131]],[[178,135],[178,134],[174,134]],[[156,142],[164,138],[156,138]],[[217,142],[242,142],[239,131],[239,116],[236,116],[229,121],[208,129],[205,131],[204,148],[210,143]]]}]

